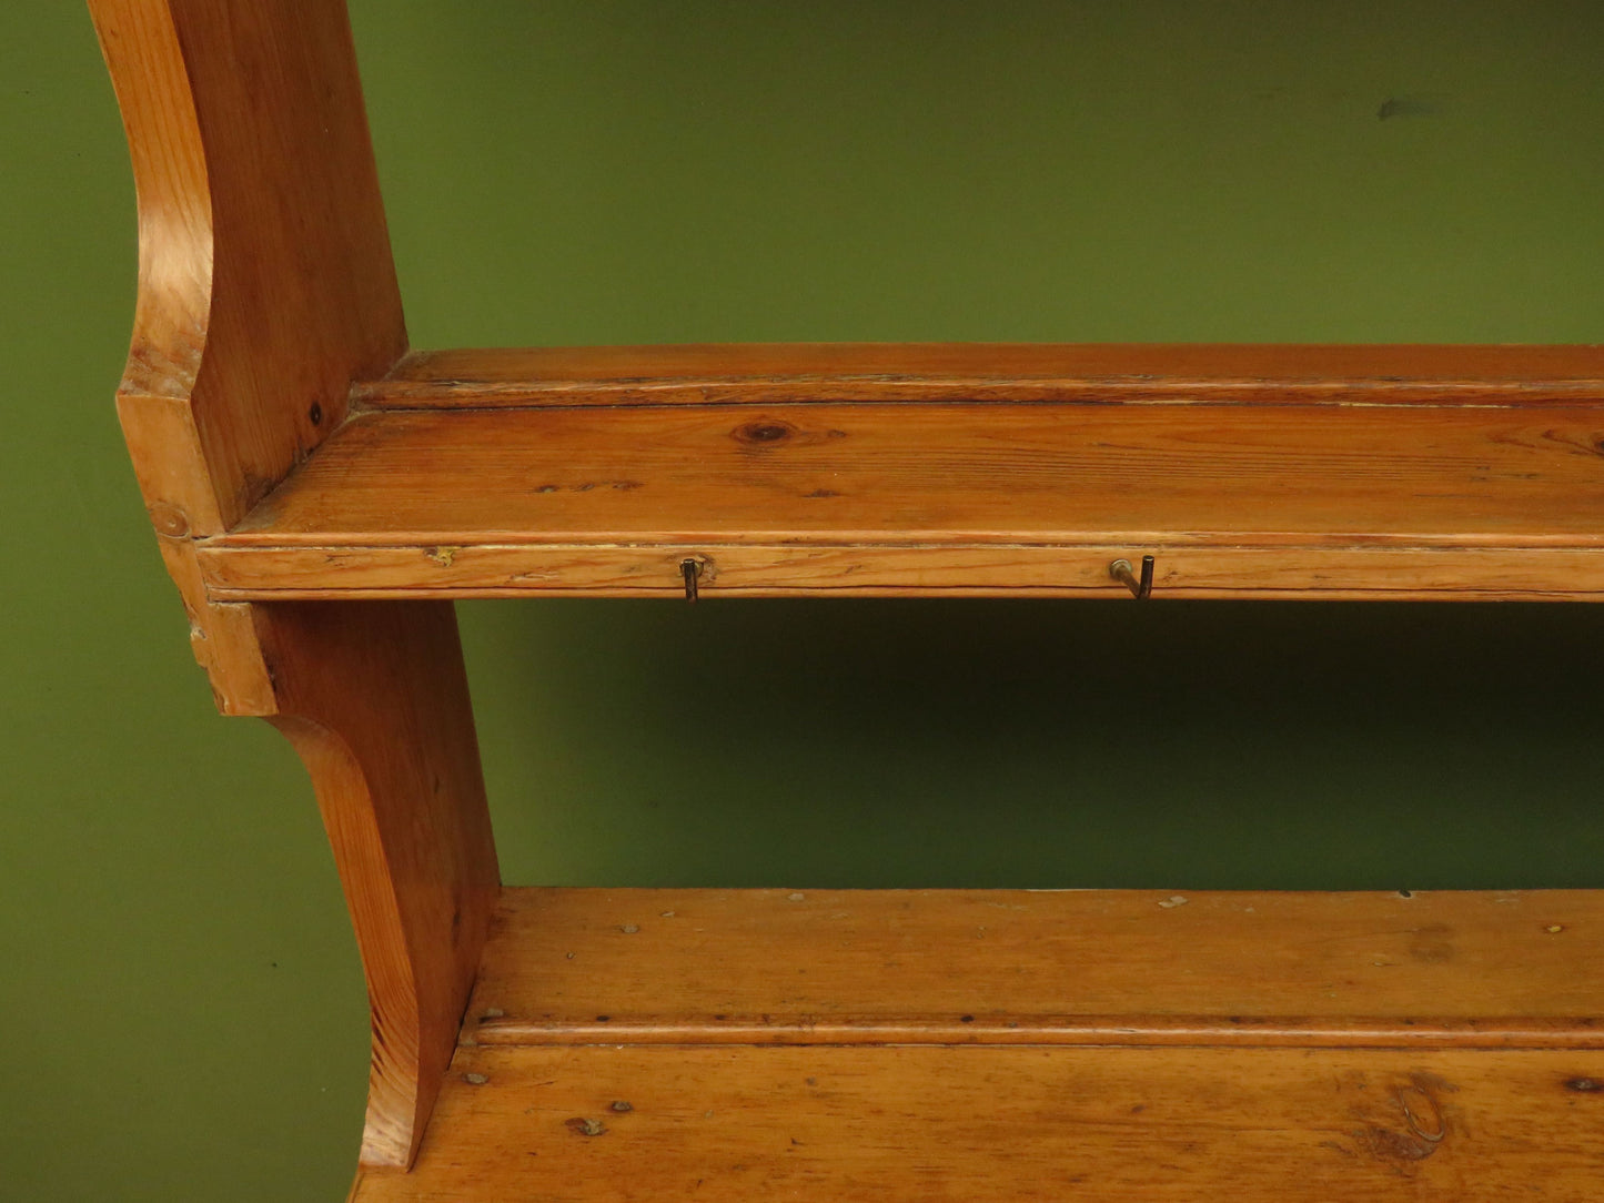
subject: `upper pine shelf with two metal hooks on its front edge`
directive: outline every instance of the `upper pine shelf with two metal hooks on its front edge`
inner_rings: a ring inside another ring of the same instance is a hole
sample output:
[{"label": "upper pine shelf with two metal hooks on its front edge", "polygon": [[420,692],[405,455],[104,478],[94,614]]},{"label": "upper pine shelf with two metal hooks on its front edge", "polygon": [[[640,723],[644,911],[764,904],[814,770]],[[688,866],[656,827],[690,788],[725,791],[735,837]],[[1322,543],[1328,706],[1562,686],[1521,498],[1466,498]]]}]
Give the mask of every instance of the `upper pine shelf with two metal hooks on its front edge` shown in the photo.
[{"label": "upper pine shelf with two metal hooks on its front edge", "polygon": [[1142,555],[1155,597],[1604,595],[1594,380],[709,382],[627,356],[574,380],[598,366],[475,354],[361,387],[390,407],[202,541],[212,595],[669,595],[691,558],[709,597],[1118,597],[1110,561]]}]

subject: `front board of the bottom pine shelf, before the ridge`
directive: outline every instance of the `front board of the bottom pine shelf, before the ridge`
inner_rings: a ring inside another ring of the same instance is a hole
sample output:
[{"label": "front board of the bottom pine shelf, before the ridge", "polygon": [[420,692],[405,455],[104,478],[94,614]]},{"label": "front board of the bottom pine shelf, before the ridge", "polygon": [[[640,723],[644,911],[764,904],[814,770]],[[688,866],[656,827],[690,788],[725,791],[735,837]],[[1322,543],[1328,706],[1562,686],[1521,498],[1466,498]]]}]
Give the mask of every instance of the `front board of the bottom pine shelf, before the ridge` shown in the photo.
[{"label": "front board of the bottom pine shelf, before the ridge", "polygon": [[462,1049],[415,1169],[353,1198],[1590,1203],[1601,1083],[1570,1051]]}]

